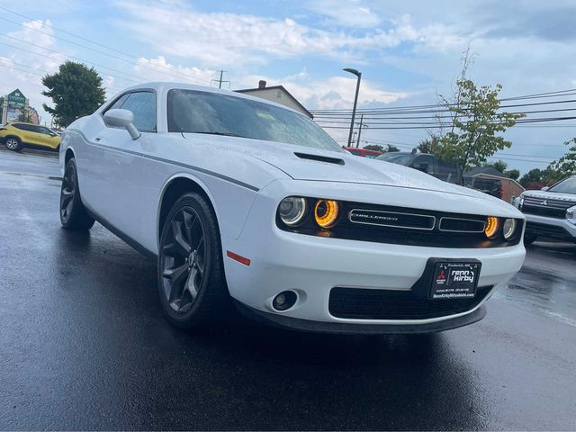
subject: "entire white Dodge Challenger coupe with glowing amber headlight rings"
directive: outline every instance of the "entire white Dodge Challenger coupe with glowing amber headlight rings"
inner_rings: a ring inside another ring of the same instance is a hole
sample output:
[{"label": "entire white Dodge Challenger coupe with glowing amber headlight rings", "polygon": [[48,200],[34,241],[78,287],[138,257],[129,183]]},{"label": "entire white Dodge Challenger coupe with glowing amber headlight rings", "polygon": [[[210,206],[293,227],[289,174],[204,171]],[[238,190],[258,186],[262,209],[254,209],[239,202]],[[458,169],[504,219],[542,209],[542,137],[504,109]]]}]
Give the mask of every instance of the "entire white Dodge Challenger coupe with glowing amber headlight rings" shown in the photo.
[{"label": "entire white Dodge Challenger coupe with glowing amber headlight rings", "polygon": [[302,114],[229,91],[131,87],[74,121],[59,157],[64,228],[98,220],[153,257],[184,328],[234,303],[301,330],[454,329],[526,253],[509,203],[352,156]]}]

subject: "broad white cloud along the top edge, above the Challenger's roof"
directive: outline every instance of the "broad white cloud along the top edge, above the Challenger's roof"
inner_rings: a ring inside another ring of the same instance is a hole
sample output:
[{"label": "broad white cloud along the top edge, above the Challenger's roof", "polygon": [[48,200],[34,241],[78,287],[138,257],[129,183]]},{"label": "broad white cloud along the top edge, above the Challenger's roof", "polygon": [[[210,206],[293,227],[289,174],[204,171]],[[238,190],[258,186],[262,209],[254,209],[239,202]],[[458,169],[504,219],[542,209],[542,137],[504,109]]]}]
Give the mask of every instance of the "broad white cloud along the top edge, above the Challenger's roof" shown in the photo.
[{"label": "broad white cloud along the top edge, above the Challenger's roof", "polygon": [[222,63],[238,67],[306,55],[363,61],[366,51],[383,51],[424,37],[412,27],[409,17],[393,23],[388,31],[375,29],[356,36],[308,27],[290,18],[202,13],[184,4],[166,2],[144,6],[136,0],[122,0],[119,4],[130,15],[121,25],[140,40],[164,55],[194,58],[211,67]]}]

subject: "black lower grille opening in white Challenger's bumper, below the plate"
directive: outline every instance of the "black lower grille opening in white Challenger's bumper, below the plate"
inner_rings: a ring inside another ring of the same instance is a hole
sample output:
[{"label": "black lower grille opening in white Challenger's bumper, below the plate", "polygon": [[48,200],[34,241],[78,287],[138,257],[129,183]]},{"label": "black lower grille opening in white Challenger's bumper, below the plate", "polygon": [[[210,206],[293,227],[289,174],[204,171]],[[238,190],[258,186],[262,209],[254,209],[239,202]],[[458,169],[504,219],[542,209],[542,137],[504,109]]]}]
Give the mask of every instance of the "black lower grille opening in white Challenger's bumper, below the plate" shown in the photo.
[{"label": "black lower grille opening in white Challenger's bumper, below the plate", "polygon": [[428,300],[411,291],[336,287],[330,291],[329,312],[355,320],[427,320],[471,311],[491,289],[478,287],[473,299]]}]

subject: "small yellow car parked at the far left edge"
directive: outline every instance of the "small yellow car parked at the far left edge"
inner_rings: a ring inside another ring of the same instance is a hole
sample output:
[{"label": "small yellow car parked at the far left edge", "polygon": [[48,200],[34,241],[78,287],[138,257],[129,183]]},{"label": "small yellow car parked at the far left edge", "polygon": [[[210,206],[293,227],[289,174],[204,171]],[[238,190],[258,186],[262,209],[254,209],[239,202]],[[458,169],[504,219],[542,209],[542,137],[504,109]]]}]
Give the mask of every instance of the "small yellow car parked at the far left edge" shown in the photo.
[{"label": "small yellow car parked at the far left edge", "polygon": [[7,122],[0,127],[0,141],[14,151],[23,147],[49,148],[56,150],[60,146],[61,137],[44,126],[22,121]]}]

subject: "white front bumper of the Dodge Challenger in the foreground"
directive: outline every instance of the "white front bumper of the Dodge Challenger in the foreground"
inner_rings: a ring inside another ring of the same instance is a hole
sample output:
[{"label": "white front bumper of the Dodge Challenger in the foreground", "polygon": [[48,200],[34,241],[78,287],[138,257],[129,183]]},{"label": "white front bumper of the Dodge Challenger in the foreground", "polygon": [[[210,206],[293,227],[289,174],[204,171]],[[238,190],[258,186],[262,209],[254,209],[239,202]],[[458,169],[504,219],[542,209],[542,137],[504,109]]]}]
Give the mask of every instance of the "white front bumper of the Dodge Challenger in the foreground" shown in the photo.
[{"label": "white front bumper of the Dodge Challenger in the foreground", "polygon": [[[414,247],[286,232],[275,226],[278,200],[272,195],[258,194],[238,238],[222,238],[224,266],[229,293],[236,301],[252,315],[287,327],[420,332],[470,324],[482,319],[483,302],[518,273],[526,254],[522,243],[490,248]],[[227,251],[247,257],[250,265],[226,257]],[[337,287],[411,293],[430,257],[481,261],[478,286],[490,287],[482,302],[459,313],[425,319],[338,318],[330,313],[330,293]],[[298,300],[288,311],[275,311],[273,299],[283,291],[297,293]]]}]

